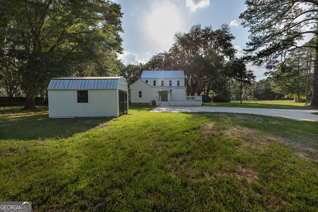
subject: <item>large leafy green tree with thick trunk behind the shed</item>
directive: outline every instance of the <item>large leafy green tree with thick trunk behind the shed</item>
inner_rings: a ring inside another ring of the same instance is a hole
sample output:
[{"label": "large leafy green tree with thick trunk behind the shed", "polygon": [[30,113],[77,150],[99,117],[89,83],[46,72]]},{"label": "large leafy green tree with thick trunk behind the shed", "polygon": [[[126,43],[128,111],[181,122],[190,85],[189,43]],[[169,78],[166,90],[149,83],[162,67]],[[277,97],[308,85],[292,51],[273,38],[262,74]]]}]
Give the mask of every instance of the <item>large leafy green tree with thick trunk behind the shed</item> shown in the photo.
[{"label": "large leafy green tree with thick trunk behind the shed", "polygon": [[0,59],[20,73],[25,109],[52,77],[104,74],[116,63],[121,17],[111,1],[0,1]]}]

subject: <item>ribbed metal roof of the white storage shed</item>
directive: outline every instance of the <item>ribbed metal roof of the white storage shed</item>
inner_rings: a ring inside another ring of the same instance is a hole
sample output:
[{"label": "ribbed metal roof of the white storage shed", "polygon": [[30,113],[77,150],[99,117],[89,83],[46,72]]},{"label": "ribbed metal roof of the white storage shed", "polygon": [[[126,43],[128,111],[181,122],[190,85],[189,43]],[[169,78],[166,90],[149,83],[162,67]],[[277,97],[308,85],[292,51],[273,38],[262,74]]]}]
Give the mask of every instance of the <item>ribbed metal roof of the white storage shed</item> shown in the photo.
[{"label": "ribbed metal roof of the white storage shed", "polygon": [[47,90],[117,89],[123,77],[59,77],[50,81]]}]

